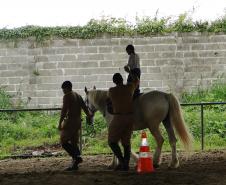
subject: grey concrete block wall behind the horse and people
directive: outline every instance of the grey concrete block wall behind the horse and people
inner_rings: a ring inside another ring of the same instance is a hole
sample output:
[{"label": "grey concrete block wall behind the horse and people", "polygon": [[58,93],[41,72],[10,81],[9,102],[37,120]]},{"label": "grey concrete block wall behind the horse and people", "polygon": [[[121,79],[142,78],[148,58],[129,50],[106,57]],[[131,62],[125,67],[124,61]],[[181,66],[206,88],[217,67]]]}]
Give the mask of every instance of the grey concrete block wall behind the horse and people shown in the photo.
[{"label": "grey concrete block wall behind the horse and people", "polygon": [[206,88],[226,76],[226,35],[173,33],[154,37],[0,41],[0,87],[30,107],[58,107],[61,84],[73,83],[84,95],[85,86],[113,86],[115,72],[126,73],[125,47],[140,56],[143,91],[158,89],[177,95]]}]

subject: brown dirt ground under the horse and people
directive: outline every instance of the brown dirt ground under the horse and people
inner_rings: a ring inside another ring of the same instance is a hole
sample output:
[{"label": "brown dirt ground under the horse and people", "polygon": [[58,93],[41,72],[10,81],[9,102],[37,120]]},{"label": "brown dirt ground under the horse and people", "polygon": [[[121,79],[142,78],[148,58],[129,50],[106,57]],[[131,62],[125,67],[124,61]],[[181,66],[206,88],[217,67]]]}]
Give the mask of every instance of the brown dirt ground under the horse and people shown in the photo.
[{"label": "brown dirt ground under the horse and people", "polygon": [[84,156],[77,172],[65,172],[70,159],[32,158],[0,161],[0,185],[226,185],[226,150],[198,152],[188,160],[182,153],[180,167],[168,169],[170,154],[163,154],[162,166],[151,174],[108,169],[109,155]]}]

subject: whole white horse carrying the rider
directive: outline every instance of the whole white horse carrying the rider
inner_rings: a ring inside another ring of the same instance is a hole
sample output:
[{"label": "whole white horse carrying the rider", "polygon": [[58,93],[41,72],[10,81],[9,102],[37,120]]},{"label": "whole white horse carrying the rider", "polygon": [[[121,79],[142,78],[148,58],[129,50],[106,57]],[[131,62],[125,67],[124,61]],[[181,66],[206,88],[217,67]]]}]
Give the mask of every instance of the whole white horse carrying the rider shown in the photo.
[{"label": "whole white horse carrying the rider", "polygon": [[[99,110],[109,125],[113,115],[109,114],[107,111],[107,91],[96,89],[88,91],[85,87],[85,93],[85,101],[88,108],[93,113]],[[154,166],[158,167],[161,163],[161,150],[164,139],[160,132],[159,125],[162,122],[167,131],[172,149],[172,159],[169,163],[169,167],[177,168],[179,166],[179,160],[176,150],[177,139],[175,137],[174,128],[186,151],[191,149],[192,136],[185,125],[181,107],[176,97],[173,94],[161,91],[151,91],[142,94],[134,101],[133,110],[136,120],[133,130],[148,128],[156,140],[157,146],[153,156]],[[132,155],[137,159],[137,155],[134,152],[132,152]]]}]

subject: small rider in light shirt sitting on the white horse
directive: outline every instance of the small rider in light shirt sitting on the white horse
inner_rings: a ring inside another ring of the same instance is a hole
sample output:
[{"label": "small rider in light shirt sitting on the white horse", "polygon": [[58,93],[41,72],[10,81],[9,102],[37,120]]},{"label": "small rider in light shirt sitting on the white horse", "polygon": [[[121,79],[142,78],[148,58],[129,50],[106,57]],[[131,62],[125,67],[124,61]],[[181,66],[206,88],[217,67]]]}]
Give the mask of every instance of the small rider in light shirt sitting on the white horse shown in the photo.
[{"label": "small rider in light shirt sitting on the white horse", "polygon": [[[127,83],[132,82],[132,74],[136,75],[138,79],[140,80],[141,70],[140,70],[140,57],[137,53],[135,53],[135,48],[133,45],[129,44],[126,47],[126,52],[129,55],[129,60],[127,65],[124,66],[124,70],[129,73],[127,78]],[[134,92],[134,99],[138,97],[140,94],[139,85],[137,86],[135,92]]]}]

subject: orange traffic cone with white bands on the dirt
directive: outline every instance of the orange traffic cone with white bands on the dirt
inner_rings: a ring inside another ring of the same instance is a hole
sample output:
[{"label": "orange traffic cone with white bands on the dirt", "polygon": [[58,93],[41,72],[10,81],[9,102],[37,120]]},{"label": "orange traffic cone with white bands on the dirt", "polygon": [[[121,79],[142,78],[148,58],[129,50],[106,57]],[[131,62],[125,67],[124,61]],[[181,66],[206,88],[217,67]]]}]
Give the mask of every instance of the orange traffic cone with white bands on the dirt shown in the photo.
[{"label": "orange traffic cone with white bands on the dirt", "polygon": [[150,173],[154,171],[151,153],[149,151],[147,134],[145,131],[141,133],[141,146],[139,152],[139,160],[137,163],[138,173]]}]

